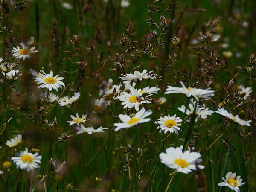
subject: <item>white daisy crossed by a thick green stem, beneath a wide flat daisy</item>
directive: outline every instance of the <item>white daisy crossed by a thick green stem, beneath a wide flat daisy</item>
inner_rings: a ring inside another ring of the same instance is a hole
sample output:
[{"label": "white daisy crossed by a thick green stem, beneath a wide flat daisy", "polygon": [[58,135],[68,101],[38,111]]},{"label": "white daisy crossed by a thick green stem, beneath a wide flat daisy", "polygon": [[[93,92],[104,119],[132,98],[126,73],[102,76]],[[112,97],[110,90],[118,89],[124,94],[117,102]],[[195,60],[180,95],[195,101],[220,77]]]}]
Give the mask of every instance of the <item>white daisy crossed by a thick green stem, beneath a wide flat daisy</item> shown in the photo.
[{"label": "white daisy crossed by a thick green stem, beneath a wide flat daisy", "polygon": [[[192,101],[192,100],[191,100]],[[189,103],[189,109],[185,107],[185,105],[182,105],[181,107],[178,108],[178,110],[180,110],[183,113],[186,113],[188,116],[191,116],[194,112],[195,109],[195,101],[192,103]],[[185,112],[186,109],[186,112]],[[212,113],[214,113],[214,111],[209,110],[209,108],[204,108],[204,107],[200,107],[199,105],[197,105],[196,111],[195,111],[195,121],[197,122],[200,118],[202,119],[206,119],[207,115],[212,115]]]}]

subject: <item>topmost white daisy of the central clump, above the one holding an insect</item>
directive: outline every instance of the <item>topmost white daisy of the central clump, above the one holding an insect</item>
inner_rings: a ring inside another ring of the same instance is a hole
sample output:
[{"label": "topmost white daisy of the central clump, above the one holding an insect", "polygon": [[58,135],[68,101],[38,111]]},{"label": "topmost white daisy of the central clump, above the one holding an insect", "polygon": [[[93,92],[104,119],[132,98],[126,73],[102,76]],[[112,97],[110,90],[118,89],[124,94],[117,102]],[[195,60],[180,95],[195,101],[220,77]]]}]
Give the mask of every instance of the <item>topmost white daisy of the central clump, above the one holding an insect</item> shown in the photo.
[{"label": "topmost white daisy of the central clump, above the one holding an insect", "polygon": [[131,81],[134,81],[135,83],[137,80],[142,81],[143,79],[156,79],[156,74],[151,74],[153,71],[149,71],[147,73],[147,70],[143,70],[141,73],[139,71],[134,71],[133,74],[125,74],[122,77],[119,77],[120,79],[124,80],[124,83],[130,83]]}]

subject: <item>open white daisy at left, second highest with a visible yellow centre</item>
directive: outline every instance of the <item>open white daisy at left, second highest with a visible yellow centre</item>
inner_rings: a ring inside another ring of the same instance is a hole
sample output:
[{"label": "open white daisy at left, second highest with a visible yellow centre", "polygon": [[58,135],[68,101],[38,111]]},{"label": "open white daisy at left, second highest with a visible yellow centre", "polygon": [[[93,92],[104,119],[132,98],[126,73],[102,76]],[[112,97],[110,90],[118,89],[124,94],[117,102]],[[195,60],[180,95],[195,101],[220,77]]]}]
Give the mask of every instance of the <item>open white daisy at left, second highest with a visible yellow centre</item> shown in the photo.
[{"label": "open white daisy at left, second highest with a visible yellow centre", "polygon": [[52,71],[50,71],[49,74],[44,73],[44,71],[41,71],[42,73],[39,73],[39,76],[35,78],[36,84],[41,84],[38,88],[46,88],[49,91],[52,91],[52,89],[55,89],[58,91],[58,88],[62,89],[62,86],[65,87],[64,83],[61,81],[64,79],[63,77],[58,77],[58,75],[53,76]]}]

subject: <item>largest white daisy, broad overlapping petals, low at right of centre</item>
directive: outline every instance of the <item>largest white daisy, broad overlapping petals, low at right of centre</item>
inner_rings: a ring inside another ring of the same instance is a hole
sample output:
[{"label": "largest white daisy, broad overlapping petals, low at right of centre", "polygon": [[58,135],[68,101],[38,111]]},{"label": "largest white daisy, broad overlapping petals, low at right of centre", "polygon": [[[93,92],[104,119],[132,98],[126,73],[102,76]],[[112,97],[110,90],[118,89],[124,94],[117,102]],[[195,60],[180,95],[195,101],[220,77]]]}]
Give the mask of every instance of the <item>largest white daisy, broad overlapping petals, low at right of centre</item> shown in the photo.
[{"label": "largest white daisy, broad overlapping petals, low at right of centre", "polygon": [[191,170],[204,169],[204,166],[199,165],[202,160],[201,154],[198,152],[184,151],[181,147],[167,148],[166,153],[160,153],[160,160],[169,168],[176,169],[177,172],[189,173]]}]

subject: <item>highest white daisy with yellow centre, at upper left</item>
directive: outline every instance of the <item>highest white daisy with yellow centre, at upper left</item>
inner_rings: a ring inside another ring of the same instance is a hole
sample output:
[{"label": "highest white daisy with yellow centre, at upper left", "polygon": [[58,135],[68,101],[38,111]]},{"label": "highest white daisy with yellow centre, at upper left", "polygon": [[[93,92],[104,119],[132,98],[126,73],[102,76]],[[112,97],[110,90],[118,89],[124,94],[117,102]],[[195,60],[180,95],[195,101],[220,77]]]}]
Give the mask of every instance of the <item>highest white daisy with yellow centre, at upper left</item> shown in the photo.
[{"label": "highest white daisy with yellow centre, at upper left", "polygon": [[35,50],[35,46],[31,47],[31,48],[28,48],[23,43],[21,43],[20,45],[22,46],[22,48],[17,46],[17,48],[13,47],[13,49],[12,49],[12,52],[13,52],[12,55],[15,58],[18,58],[18,59],[22,58],[23,60],[25,60],[26,58],[30,58],[29,54],[37,52],[37,50]]}]

